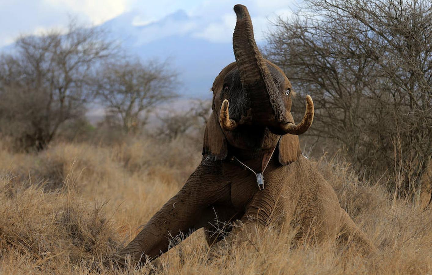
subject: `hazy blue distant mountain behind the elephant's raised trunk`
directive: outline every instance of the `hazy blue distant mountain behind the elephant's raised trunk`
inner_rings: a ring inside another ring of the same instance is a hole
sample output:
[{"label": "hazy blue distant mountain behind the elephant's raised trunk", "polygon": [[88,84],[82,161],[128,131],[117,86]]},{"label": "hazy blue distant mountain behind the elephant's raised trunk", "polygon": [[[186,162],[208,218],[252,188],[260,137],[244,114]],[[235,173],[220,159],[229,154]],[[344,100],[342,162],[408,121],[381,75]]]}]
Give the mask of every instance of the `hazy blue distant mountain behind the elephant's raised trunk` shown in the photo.
[{"label": "hazy blue distant mountain behind the elephant's raised trunk", "polygon": [[170,61],[180,73],[177,92],[182,96],[210,98],[214,78],[235,58],[232,43],[210,42],[197,35],[206,25],[206,19],[178,10],[156,22],[143,22],[137,12],[124,13],[102,27],[120,38],[130,54]]}]

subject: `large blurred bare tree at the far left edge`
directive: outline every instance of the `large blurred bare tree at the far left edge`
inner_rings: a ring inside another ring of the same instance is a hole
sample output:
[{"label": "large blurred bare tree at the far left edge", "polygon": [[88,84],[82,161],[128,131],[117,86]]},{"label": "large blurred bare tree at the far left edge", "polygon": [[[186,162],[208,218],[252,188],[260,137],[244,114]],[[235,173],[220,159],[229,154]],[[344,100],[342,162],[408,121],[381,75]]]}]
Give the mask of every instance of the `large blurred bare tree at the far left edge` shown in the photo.
[{"label": "large blurred bare tree at the far left edge", "polygon": [[26,150],[44,149],[60,125],[84,115],[91,75],[115,51],[103,30],[75,23],[64,34],[17,39],[0,57],[0,132]]}]

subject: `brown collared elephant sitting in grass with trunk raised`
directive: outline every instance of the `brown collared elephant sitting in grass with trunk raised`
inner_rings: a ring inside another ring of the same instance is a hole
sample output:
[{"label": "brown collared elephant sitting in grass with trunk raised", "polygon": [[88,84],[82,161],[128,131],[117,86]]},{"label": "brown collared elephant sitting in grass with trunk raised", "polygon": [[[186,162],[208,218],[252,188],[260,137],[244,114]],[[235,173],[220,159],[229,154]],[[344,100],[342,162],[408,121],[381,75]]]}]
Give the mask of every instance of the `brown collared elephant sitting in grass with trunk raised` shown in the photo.
[{"label": "brown collared elephant sitting in grass with trunk raised", "polygon": [[[374,247],[340,207],[334,189],[302,155],[298,135],[312,124],[311,97],[306,97],[302,121],[295,124],[290,81],[257,48],[247,8],[235,5],[234,11],[235,62],[213,82],[201,163],[181,190],[111,258],[118,265],[124,265],[128,256],[134,263],[156,259],[176,244],[172,237],[187,237],[202,227],[212,246],[270,222],[295,226],[298,239],[313,232],[315,240],[349,240],[365,251]],[[224,233],[215,234],[216,220],[241,221],[242,227],[227,226]]]}]

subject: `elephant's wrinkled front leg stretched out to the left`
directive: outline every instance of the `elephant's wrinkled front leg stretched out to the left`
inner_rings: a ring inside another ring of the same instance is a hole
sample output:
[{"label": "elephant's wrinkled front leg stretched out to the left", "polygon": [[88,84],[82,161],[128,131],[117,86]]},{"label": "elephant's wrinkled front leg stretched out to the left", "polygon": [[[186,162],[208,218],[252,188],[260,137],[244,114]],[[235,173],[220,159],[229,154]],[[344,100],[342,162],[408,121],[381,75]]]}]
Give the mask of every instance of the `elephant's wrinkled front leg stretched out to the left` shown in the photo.
[{"label": "elephant's wrinkled front leg stretched out to the left", "polygon": [[191,174],[183,188],[172,197],[144,226],[120,253],[112,259],[118,265],[131,261],[155,259],[175,246],[173,237],[188,236],[202,226],[206,209],[217,201],[229,198],[229,186],[220,182],[220,173],[213,166],[200,165]]}]

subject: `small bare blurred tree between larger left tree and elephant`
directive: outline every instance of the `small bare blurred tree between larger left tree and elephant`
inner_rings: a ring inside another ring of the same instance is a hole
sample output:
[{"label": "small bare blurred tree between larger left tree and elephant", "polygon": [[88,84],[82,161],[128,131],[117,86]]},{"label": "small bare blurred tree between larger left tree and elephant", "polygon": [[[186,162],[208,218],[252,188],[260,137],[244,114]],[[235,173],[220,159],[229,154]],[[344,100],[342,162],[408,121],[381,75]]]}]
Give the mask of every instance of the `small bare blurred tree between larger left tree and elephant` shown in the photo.
[{"label": "small bare blurred tree between larger left tree and elephant", "polygon": [[177,96],[177,74],[166,62],[124,61],[105,64],[96,94],[111,115],[121,118],[125,132],[143,127],[152,109]]}]

